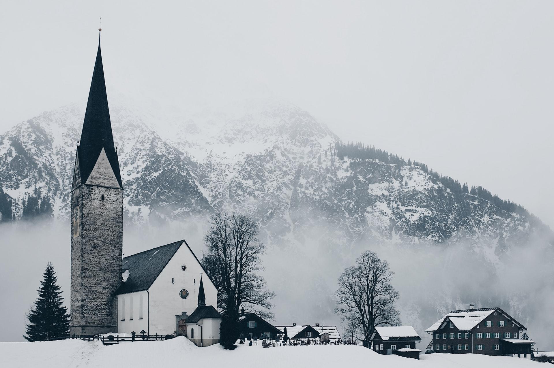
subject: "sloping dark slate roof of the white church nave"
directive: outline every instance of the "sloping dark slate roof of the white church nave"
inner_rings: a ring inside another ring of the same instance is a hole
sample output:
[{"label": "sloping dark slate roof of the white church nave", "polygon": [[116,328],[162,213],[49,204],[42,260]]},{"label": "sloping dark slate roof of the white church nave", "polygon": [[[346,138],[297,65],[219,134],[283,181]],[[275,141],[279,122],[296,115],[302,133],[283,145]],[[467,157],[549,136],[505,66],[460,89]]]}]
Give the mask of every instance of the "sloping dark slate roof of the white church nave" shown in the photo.
[{"label": "sloping dark slate roof of the white church nave", "polygon": [[129,270],[129,277],[121,283],[116,294],[147,290],[175,255],[184,240],[176,241],[123,258],[121,272]]}]

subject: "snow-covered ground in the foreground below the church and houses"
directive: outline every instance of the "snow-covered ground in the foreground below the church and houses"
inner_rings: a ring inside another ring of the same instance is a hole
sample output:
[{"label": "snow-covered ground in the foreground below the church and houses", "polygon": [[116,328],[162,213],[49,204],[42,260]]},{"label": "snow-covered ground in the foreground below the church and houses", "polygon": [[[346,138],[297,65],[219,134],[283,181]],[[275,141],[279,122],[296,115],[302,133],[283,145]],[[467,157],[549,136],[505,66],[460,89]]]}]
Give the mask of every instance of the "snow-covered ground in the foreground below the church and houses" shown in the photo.
[{"label": "snow-covered ground in the foreground below the church and houses", "polygon": [[[540,363],[506,356],[429,354],[422,360],[379,355],[361,346],[311,345],[262,349],[239,345],[225,351],[219,345],[197,348],[186,338],[139,341],[103,346],[100,341],[63,340],[40,343],[0,343],[0,366],[12,367],[228,367],[259,364],[272,367],[389,367],[389,368],[525,368]],[[255,362],[255,363],[254,363]],[[542,364],[543,366],[544,364]]]}]

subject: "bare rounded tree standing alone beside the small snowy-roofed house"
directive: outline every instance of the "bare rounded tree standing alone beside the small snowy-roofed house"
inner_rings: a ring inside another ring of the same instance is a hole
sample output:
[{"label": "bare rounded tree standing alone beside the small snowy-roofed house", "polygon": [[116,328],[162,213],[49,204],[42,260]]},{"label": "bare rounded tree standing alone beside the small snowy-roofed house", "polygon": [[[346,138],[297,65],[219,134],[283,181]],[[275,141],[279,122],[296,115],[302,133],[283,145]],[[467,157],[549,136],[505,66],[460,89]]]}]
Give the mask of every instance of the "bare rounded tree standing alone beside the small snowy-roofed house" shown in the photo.
[{"label": "bare rounded tree standing alone beside the small snowy-roofed house", "polygon": [[387,261],[366,251],[338,278],[335,312],[343,321],[356,321],[366,341],[376,326],[400,324],[400,312],[394,307],[399,296],[391,284],[393,275]]}]

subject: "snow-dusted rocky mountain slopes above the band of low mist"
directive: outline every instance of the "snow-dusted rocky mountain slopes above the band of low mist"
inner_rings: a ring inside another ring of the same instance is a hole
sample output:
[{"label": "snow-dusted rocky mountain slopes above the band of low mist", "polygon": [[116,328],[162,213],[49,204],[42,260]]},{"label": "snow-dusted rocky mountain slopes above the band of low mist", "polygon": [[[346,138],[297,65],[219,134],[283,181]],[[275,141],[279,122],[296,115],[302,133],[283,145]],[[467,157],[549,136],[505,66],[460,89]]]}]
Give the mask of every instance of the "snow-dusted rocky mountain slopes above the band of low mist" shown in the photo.
[{"label": "snow-dusted rocky mountain slopes above the band of low mist", "polygon": [[[67,216],[83,115],[81,106],[61,107],[0,136],[0,196],[12,200],[11,212],[0,207],[4,221],[49,211],[44,201]],[[325,223],[343,244],[486,238],[495,252],[547,231],[535,218],[453,193],[419,166],[338,159],[340,139],[291,103],[250,100],[190,115],[115,104],[111,117],[134,222],[223,209],[253,215],[270,237]],[[38,210],[25,211],[39,195]]]}]

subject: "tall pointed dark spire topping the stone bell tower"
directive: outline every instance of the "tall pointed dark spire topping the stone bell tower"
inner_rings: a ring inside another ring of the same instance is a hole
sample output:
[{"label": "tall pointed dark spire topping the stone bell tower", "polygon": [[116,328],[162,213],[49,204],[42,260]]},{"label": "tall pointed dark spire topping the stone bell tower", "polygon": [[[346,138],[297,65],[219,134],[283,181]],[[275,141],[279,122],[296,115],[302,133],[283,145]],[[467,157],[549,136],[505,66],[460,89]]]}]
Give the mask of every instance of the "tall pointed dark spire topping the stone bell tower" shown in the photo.
[{"label": "tall pointed dark spire topping the stone bell tower", "polygon": [[96,53],[93,80],[90,83],[89,100],[86,104],[83,131],[81,132],[77,151],[79,154],[79,169],[81,183],[84,184],[93,171],[102,148],[104,148],[117,182],[122,187],[119,161],[117,160],[114,137],[111,132],[110,111],[107,104],[104,66],[102,65],[102,53],[100,51],[100,31],[99,28],[98,53]]}]

